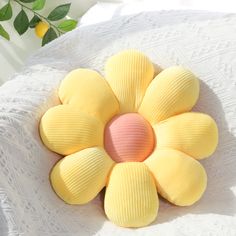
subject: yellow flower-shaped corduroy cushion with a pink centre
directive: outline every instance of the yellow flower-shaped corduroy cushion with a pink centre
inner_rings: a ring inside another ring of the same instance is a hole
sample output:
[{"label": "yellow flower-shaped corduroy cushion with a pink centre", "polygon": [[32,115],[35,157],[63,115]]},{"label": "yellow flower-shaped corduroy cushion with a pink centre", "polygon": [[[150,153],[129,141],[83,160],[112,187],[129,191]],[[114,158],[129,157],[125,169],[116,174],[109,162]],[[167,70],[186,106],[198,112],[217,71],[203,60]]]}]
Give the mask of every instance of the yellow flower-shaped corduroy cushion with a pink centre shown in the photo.
[{"label": "yellow flower-shaped corduroy cushion with a pink centre", "polygon": [[157,216],[158,194],[178,206],[200,199],[207,175],[198,162],[218,142],[214,120],[189,112],[199,82],[182,67],[154,78],[137,51],[111,57],[106,79],[88,69],[62,81],[62,105],[42,117],[44,144],[63,156],[51,184],[69,204],[85,204],[106,187],[104,208],[117,225],[141,227]]}]

